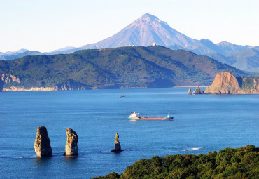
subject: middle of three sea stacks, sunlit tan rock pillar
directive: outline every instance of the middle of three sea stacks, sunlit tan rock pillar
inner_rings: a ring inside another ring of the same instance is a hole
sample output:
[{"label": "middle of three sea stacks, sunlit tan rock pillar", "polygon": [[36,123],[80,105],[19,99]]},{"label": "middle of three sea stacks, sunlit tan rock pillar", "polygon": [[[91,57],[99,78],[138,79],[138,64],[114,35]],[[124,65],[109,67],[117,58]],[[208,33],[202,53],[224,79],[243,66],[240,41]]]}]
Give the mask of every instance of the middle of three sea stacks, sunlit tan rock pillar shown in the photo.
[{"label": "middle of three sea stacks, sunlit tan rock pillar", "polygon": [[66,128],[66,156],[75,156],[78,155],[78,135],[71,128]]}]

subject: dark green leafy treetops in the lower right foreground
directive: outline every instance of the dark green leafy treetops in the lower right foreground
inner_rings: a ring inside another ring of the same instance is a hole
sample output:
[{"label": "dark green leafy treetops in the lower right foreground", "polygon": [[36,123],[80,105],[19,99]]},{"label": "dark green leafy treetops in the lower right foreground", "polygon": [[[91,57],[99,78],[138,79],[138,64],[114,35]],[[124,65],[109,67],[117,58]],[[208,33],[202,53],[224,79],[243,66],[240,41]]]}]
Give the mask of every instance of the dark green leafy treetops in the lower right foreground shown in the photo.
[{"label": "dark green leafy treetops in the lower right foreground", "polygon": [[141,159],[124,173],[109,173],[95,179],[115,178],[258,178],[259,147],[246,145],[208,154],[176,154]]}]

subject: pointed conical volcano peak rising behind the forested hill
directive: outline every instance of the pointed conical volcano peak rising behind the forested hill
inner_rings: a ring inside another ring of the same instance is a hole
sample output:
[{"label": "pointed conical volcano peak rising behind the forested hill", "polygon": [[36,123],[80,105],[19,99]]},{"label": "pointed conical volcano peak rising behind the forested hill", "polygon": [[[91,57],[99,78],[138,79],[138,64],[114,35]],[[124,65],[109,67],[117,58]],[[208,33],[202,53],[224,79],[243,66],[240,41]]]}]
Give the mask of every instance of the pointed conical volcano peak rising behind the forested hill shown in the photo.
[{"label": "pointed conical volcano peak rising behind the forested hill", "polygon": [[166,22],[159,20],[154,15],[146,13],[112,37],[95,44],[83,46],[81,49],[151,46],[153,43],[167,47],[186,47],[191,46],[196,41],[172,29]]}]

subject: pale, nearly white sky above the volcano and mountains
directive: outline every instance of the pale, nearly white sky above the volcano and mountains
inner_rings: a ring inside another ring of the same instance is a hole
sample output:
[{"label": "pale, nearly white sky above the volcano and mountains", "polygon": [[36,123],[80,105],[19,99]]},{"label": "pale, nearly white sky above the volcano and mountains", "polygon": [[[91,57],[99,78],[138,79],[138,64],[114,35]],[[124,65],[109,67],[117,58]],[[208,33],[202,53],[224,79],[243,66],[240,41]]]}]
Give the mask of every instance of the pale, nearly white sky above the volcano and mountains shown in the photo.
[{"label": "pale, nearly white sky above the volcano and mountains", "polygon": [[0,0],[0,52],[92,44],[144,13],[193,39],[259,46],[258,0]]}]

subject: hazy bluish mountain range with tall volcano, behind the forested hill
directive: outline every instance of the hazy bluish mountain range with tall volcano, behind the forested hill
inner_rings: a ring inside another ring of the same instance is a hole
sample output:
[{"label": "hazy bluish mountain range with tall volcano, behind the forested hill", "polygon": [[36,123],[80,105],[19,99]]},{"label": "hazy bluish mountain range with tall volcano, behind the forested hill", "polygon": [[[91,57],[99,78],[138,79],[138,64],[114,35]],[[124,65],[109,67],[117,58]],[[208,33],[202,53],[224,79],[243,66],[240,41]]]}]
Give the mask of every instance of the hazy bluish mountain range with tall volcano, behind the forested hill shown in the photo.
[{"label": "hazy bluish mountain range with tall volcano, behind the forested hill", "polygon": [[[165,46],[173,50],[185,49],[198,55],[208,55],[219,62],[232,65],[242,70],[259,72],[259,46],[240,46],[222,41],[214,44],[209,39],[192,39],[172,29],[166,22],[154,15],[144,14],[112,37],[80,48],[61,48],[47,55],[68,54],[83,49],[114,48],[121,46],[150,46],[151,44]],[[1,60],[11,60],[25,55],[39,55],[38,51],[16,51],[0,53]]]}]

